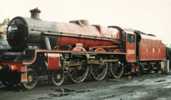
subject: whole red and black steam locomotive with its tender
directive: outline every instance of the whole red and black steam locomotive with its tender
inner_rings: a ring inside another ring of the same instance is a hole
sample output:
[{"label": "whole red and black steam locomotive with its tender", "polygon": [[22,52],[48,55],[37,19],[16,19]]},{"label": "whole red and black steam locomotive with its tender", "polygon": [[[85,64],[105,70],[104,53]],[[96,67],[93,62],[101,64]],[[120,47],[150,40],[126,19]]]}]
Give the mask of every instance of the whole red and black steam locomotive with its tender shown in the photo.
[{"label": "whole red and black steam locomotive with its tender", "polygon": [[166,47],[156,36],[118,26],[43,21],[39,9],[31,18],[15,17],[7,28],[11,49],[0,52],[0,80],[6,86],[34,88],[47,75],[60,86],[65,76],[80,83],[89,75],[103,80],[127,72],[168,71]]}]

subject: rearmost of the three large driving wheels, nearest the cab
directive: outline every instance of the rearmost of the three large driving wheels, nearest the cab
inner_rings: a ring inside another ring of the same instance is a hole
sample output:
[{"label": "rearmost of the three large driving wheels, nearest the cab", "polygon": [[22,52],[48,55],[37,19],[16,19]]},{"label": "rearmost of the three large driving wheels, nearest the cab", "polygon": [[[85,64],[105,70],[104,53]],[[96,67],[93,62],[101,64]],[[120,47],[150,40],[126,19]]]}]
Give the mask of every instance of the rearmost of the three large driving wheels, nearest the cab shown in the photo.
[{"label": "rearmost of the three large driving wheels, nearest the cab", "polygon": [[120,62],[110,63],[109,66],[109,71],[112,77],[118,79],[123,75],[124,65],[122,65]]}]

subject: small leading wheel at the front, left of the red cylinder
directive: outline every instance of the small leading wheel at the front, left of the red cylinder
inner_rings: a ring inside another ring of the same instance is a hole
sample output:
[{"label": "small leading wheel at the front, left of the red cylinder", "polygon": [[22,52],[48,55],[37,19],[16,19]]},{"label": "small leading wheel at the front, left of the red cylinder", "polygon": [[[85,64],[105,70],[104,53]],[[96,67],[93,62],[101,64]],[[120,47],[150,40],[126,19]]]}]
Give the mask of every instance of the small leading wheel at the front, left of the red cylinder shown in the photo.
[{"label": "small leading wheel at the front, left of the red cylinder", "polygon": [[27,80],[28,80],[27,82],[22,83],[22,86],[24,89],[30,90],[30,89],[33,89],[37,85],[38,75],[34,69],[32,68],[28,69]]}]

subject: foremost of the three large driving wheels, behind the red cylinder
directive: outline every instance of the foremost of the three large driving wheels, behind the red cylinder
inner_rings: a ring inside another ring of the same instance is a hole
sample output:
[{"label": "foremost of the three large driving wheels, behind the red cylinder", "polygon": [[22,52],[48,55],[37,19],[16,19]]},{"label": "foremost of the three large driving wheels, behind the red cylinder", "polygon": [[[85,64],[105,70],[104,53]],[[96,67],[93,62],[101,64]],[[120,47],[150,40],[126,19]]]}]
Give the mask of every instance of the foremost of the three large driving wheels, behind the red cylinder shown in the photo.
[{"label": "foremost of the three large driving wheels, behind the red cylinder", "polygon": [[86,61],[74,61],[72,64],[74,66],[69,68],[68,71],[71,81],[74,83],[83,82],[87,78],[90,69]]}]

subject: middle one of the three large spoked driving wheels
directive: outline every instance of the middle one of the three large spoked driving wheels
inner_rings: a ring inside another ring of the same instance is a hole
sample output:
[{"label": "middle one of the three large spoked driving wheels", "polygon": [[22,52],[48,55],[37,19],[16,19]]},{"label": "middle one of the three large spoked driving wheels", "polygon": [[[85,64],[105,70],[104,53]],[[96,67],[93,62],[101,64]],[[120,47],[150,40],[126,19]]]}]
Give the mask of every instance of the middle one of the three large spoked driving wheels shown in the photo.
[{"label": "middle one of the three large spoked driving wheels", "polygon": [[99,80],[103,80],[108,72],[108,65],[107,63],[102,63],[102,64],[93,64],[91,65],[91,75],[92,77],[99,81]]}]

